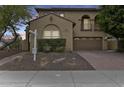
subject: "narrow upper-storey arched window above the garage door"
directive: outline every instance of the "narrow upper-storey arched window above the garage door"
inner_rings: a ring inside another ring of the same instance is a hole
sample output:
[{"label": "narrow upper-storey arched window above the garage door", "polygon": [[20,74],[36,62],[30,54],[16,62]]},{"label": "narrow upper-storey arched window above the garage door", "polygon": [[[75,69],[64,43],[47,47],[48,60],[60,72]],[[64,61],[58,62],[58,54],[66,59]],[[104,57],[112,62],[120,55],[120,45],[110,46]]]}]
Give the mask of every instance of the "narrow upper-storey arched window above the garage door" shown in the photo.
[{"label": "narrow upper-storey arched window above the garage door", "polygon": [[81,30],[83,31],[91,30],[91,22],[90,17],[88,15],[83,16],[81,19]]}]

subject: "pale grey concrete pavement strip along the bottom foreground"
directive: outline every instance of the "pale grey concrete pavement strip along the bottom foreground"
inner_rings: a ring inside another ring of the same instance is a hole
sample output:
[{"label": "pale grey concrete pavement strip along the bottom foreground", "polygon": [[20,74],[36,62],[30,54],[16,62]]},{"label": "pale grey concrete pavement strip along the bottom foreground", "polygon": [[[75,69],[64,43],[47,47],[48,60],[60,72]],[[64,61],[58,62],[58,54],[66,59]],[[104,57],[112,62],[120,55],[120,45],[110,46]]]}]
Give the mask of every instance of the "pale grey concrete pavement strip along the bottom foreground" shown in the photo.
[{"label": "pale grey concrete pavement strip along the bottom foreground", "polygon": [[0,71],[1,87],[123,87],[124,71]]}]

